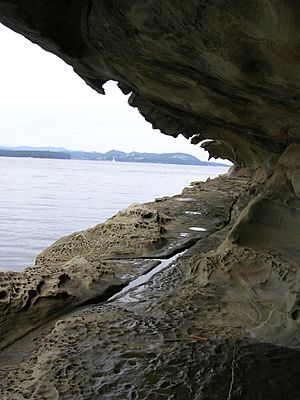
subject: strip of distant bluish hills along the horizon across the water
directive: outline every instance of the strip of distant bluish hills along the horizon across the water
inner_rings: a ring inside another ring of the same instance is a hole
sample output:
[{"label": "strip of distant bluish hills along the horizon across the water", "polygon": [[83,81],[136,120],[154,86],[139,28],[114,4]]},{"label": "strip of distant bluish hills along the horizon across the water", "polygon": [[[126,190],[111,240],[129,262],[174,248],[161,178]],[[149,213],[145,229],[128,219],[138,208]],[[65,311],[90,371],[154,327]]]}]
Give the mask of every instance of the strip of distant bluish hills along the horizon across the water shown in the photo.
[{"label": "strip of distant bluish hills along the horizon across the water", "polygon": [[[0,146],[1,147],[1,146]],[[200,161],[186,153],[139,153],[132,151],[125,153],[119,150],[110,150],[106,153],[68,150],[64,147],[5,147],[0,148],[0,156],[6,157],[36,157],[36,158],[61,158],[73,160],[95,160],[95,161],[116,161],[136,162],[154,164],[181,164],[181,165],[202,165],[202,166],[226,166],[226,164]]]}]

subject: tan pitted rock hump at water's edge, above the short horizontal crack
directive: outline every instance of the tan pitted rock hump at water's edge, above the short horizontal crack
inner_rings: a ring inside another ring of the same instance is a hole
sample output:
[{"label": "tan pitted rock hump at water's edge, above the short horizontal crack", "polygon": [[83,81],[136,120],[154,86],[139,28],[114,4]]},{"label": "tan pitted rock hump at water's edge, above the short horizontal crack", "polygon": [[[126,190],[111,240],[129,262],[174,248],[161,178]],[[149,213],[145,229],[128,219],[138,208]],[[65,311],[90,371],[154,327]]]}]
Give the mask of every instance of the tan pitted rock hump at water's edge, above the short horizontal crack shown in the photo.
[{"label": "tan pitted rock hump at water's edge, above the short horizontal crack", "polygon": [[75,256],[142,257],[159,247],[169,218],[153,207],[132,205],[104,224],[59,239],[36,258],[36,265],[61,264]]}]

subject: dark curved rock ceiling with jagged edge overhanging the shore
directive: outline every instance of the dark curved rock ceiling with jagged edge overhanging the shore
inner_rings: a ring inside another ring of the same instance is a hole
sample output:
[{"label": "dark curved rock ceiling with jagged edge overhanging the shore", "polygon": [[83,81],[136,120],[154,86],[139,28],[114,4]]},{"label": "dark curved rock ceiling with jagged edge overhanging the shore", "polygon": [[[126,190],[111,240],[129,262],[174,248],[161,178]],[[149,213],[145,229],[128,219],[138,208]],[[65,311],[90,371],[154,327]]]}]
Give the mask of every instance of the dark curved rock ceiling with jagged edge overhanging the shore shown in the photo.
[{"label": "dark curved rock ceiling with jagged edge overhanging the shore", "polygon": [[[154,128],[270,167],[299,138],[299,14],[284,0],[11,0],[0,21],[99,93],[119,82]],[[214,141],[214,143],[211,142]]]}]

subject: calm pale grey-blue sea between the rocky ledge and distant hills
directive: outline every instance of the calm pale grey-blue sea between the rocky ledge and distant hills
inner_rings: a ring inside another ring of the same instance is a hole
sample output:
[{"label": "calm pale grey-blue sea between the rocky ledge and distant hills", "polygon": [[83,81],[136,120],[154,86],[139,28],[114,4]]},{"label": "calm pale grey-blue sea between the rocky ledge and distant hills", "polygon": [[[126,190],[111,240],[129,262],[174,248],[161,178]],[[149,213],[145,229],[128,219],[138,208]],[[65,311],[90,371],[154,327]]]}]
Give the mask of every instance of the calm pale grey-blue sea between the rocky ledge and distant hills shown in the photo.
[{"label": "calm pale grey-blue sea between the rocky ledge and distant hills", "polygon": [[174,195],[226,167],[0,157],[0,270],[20,271],[55,240],[132,203]]}]

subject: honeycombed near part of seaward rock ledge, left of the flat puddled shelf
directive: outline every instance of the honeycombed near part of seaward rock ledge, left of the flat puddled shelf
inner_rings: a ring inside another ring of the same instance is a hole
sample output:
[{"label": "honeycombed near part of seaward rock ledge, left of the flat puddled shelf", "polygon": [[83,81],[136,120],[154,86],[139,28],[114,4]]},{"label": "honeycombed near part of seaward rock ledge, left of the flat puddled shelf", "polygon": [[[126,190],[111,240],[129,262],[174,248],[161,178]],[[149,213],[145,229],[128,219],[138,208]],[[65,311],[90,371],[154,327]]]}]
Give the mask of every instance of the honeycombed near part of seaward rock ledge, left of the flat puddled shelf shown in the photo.
[{"label": "honeycombed near part of seaward rock ledge, left of the flat puddled shelf", "polygon": [[[169,218],[133,205],[106,223],[55,242],[24,273],[0,273],[0,347],[80,304],[105,299],[150,268],[108,256],[145,256],[164,238]],[[154,262],[155,263],[155,262]]]}]

